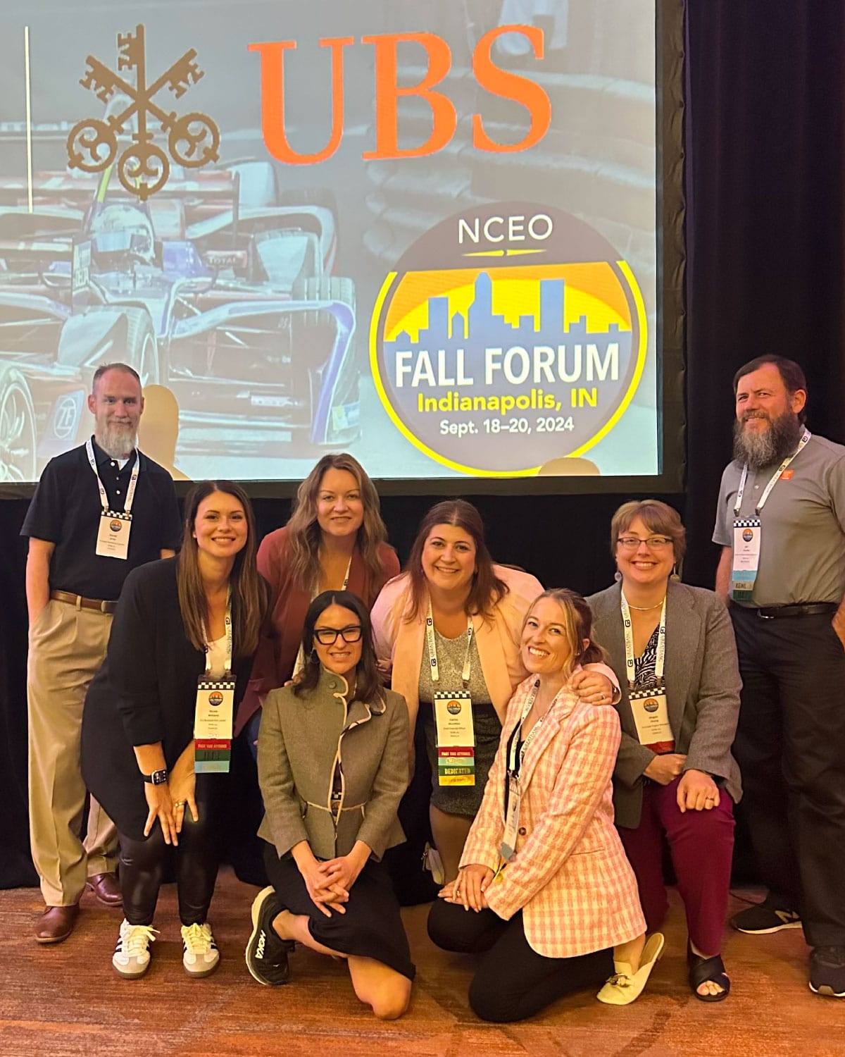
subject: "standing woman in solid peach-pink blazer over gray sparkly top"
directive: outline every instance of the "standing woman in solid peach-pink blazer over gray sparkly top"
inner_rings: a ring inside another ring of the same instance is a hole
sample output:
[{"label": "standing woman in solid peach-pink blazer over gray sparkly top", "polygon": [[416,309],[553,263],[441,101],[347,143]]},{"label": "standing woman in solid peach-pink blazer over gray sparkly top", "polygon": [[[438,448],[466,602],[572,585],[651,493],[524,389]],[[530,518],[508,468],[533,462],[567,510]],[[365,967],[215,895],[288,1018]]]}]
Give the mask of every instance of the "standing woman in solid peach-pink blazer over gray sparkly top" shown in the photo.
[{"label": "standing woman in solid peach-pink blazer over gray sparkly top", "polygon": [[[408,702],[412,739],[417,713],[424,728],[432,771],[431,830],[447,882],[457,875],[507,703],[526,675],[520,633],[542,590],[529,573],[493,564],[478,512],[455,499],[429,511],[405,573],[382,588],[373,607],[379,664],[392,672],[392,689]],[[599,665],[598,671],[580,673],[572,685],[583,700],[609,705],[617,680],[606,665]],[[437,693],[471,698],[472,784],[452,783],[445,767],[438,768]]]}]

